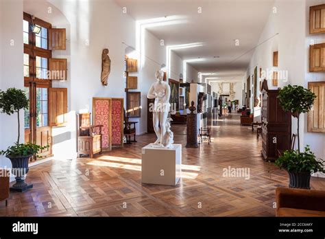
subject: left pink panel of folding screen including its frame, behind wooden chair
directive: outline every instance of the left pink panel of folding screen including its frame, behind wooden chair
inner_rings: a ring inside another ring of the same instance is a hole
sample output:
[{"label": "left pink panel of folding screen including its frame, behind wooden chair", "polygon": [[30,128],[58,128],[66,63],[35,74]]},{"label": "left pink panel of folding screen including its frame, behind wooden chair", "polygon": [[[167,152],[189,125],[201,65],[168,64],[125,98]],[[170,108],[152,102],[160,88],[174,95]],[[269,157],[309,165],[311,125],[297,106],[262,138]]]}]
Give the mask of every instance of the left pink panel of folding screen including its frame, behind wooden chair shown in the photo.
[{"label": "left pink panel of folding screen including its frame, behind wooden chair", "polygon": [[104,151],[112,149],[112,99],[93,98],[93,124],[101,124],[101,146]]}]

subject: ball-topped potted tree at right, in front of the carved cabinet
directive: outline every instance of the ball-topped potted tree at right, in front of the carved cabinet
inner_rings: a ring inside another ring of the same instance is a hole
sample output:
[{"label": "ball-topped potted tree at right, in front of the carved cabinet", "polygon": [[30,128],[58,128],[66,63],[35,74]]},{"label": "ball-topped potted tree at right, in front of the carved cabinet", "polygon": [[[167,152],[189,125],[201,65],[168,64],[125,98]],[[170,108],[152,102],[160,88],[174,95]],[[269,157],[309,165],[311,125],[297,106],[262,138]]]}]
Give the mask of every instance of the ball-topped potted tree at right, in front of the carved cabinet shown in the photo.
[{"label": "ball-topped potted tree at right, in front of the carved cabinet", "polygon": [[291,112],[297,118],[298,149],[286,150],[277,160],[276,166],[287,170],[289,174],[289,187],[310,189],[312,172],[325,172],[323,160],[317,161],[309,146],[300,152],[299,123],[300,114],[311,110],[316,95],[302,86],[290,84],[280,89],[278,99],[284,111]]}]

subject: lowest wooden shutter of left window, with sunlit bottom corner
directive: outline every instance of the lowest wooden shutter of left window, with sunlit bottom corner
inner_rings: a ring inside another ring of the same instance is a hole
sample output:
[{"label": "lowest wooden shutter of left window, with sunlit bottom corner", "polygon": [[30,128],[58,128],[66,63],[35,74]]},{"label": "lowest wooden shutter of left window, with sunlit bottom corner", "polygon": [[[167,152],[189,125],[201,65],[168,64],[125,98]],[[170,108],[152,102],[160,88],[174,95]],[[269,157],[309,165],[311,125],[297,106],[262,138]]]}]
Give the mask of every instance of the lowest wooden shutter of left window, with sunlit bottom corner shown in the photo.
[{"label": "lowest wooden shutter of left window, with sunlit bottom corner", "polygon": [[49,126],[67,124],[67,88],[49,88]]}]

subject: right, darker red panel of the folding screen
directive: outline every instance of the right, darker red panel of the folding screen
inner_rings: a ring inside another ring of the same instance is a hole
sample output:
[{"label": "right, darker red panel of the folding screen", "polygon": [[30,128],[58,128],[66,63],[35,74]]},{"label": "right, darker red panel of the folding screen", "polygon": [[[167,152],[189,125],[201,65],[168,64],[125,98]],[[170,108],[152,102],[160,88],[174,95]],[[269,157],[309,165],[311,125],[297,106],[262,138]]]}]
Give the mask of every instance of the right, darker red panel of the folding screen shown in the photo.
[{"label": "right, darker red panel of the folding screen", "polygon": [[112,98],[112,146],[123,146],[123,98]]}]

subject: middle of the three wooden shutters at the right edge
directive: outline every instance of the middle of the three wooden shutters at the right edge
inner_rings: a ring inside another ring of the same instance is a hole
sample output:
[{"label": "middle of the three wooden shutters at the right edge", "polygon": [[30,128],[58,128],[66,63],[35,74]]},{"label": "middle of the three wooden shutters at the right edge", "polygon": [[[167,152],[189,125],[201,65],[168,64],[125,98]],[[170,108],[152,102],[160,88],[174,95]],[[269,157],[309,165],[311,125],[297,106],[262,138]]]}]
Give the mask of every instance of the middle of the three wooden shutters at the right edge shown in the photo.
[{"label": "middle of the three wooden shutters at the right edge", "polygon": [[325,43],[310,45],[309,71],[325,71]]}]

